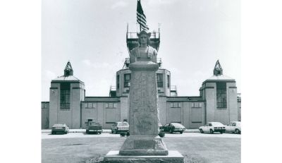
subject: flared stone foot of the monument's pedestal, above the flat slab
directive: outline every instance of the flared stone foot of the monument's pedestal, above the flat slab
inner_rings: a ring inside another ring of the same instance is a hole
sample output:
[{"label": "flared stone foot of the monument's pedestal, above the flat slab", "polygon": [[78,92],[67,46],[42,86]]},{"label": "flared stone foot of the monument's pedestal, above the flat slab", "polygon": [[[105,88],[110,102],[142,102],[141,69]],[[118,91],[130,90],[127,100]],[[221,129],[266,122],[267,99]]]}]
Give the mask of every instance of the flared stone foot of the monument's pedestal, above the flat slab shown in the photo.
[{"label": "flared stone foot of the monument's pedestal, above the flat slab", "polygon": [[158,135],[130,135],[119,155],[168,155],[168,150]]}]

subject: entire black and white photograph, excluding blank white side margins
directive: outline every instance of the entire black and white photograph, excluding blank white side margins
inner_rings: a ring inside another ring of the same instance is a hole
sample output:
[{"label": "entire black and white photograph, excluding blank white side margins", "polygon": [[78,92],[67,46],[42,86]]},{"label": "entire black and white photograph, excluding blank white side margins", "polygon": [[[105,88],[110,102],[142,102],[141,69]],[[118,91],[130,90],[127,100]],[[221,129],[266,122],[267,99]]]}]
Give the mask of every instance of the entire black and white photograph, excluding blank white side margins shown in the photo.
[{"label": "entire black and white photograph, excluding blank white side margins", "polygon": [[42,1],[42,162],[240,162],[240,1]]}]

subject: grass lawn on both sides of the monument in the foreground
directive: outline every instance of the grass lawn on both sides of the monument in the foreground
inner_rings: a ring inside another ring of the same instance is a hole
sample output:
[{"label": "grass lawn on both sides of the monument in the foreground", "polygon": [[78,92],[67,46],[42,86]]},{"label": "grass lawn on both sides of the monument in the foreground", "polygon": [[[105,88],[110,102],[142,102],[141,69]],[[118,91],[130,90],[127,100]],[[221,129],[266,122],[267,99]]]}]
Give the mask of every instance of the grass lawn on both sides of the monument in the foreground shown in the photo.
[{"label": "grass lawn on both sides of the monument in the foreground", "polygon": [[[100,162],[110,150],[120,150],[125,138],[58,138],[42,140],[42,163]],[[185,163],[239,163],[240,138],[163,138],[168,150],[178,150]]]}]

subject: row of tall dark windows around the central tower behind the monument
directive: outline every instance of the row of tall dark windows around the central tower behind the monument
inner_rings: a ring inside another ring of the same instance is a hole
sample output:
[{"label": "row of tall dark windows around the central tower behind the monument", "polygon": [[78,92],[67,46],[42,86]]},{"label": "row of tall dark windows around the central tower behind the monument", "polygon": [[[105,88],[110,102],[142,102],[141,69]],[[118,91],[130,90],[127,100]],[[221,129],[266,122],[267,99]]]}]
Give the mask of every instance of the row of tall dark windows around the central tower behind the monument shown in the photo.
[{"label": "row of tall dark windows around the central tower behind the monument", "polygon": [[[130,73],[125,73],[123,74],[123,87],[130,87]],[[119,88],[119,75],[116,76],[116,87]],[[164,87],[163,85],[163,74],[162,73],[157,73],[157,86],[158,87]],[[169,87],[170,85],[170,78],[169,78],[169,75],[167,75],[167,87]]]}]

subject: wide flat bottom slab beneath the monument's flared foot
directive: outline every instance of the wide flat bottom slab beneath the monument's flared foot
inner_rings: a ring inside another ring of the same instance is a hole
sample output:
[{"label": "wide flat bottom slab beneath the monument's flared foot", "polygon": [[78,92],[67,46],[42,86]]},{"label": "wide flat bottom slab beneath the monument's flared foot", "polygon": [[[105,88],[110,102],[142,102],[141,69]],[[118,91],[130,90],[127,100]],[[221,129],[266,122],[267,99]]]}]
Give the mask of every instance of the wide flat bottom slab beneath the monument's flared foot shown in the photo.
[{"label": "wide flat bottom slab beneath the monument's flared foot", "polygon": [[134,156],[134,155],[118,155],[118,150],[111,150],[104,157],[105,163],[183,163],[184,157],[176,150],[168,150],[166,156]]}]

